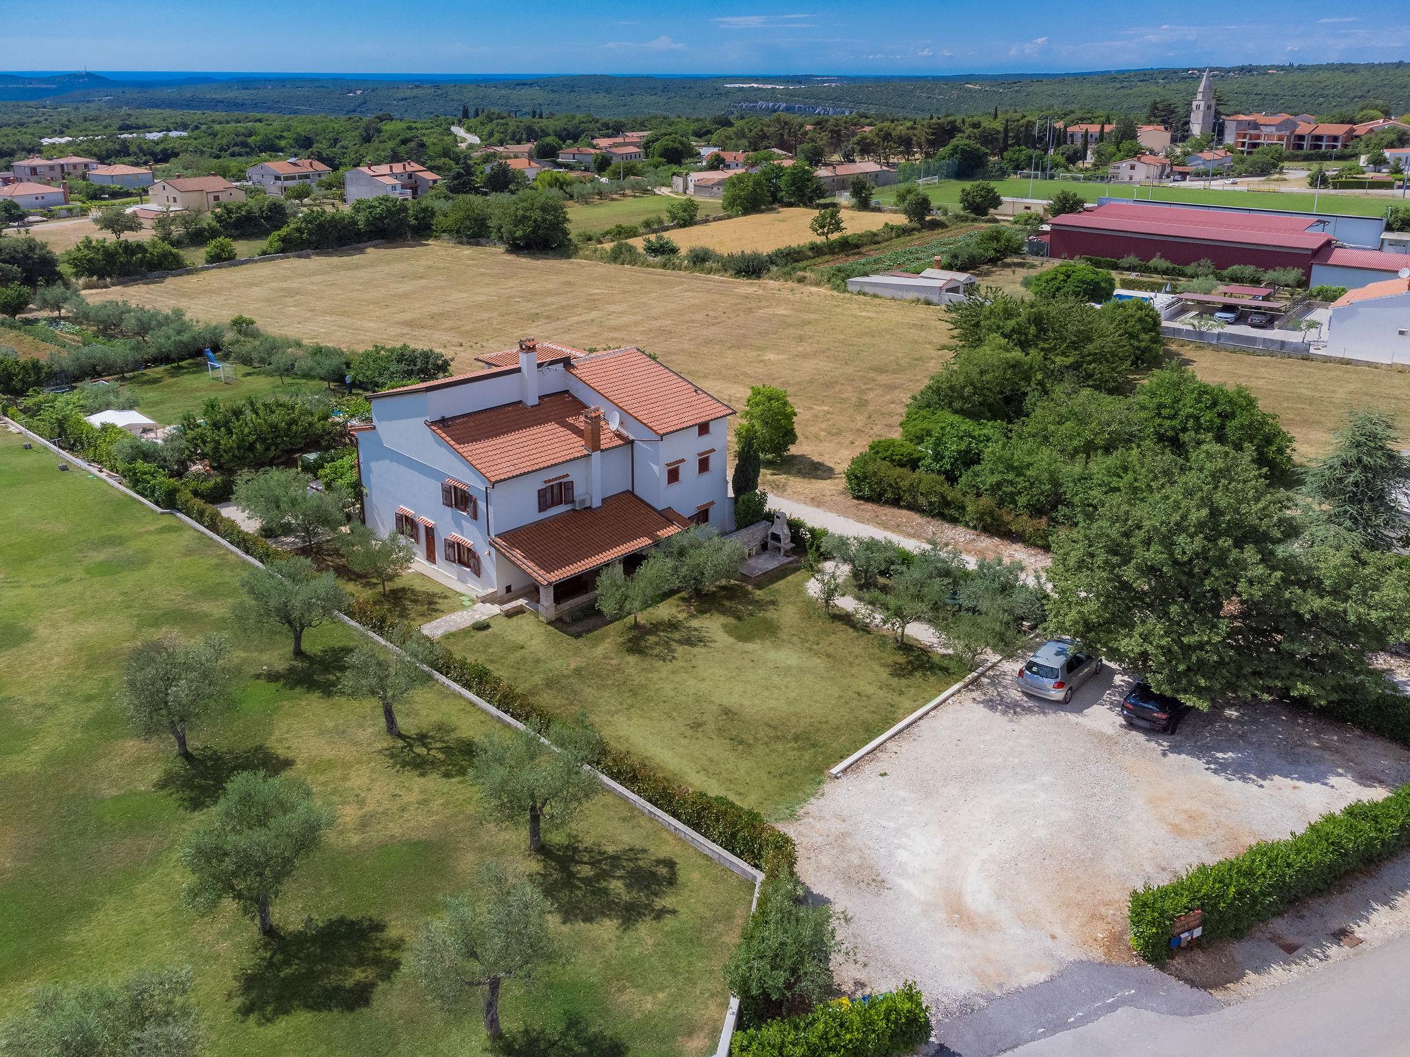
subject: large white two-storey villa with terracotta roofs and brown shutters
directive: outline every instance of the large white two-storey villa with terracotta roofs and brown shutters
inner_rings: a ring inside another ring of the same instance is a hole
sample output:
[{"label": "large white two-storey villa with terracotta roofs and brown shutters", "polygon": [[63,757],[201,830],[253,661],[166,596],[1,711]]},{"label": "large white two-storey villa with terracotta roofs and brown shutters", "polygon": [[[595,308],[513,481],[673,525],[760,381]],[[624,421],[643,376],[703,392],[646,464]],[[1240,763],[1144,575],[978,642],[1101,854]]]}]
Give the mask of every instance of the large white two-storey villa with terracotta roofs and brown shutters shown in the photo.
[{"label": "large white two-storey villa with terracotta roofs and brown shutters", "polygon": [[364,519],[416,568],[544,620],[694,524],[733,528],[733,410],[637,348],[525,338],[468,375],[372,393],[355,426]]}]

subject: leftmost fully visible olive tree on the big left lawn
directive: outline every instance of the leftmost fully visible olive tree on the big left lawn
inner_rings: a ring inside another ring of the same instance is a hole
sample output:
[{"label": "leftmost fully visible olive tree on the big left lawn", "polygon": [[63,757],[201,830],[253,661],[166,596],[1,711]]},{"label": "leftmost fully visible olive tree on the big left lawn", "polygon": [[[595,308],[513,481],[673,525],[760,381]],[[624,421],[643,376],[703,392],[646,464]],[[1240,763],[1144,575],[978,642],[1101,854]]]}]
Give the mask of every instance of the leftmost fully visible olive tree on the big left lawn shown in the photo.
[{"label": "leftmost fully visible olive tree on the big left lawn", "polygon": [[188,727],[228,702],[228,653],[219,636],[183,643],[175,634],[133,650],[123,672],[123,703],[137,731],[171,734],[176,754],[189,760]]}]

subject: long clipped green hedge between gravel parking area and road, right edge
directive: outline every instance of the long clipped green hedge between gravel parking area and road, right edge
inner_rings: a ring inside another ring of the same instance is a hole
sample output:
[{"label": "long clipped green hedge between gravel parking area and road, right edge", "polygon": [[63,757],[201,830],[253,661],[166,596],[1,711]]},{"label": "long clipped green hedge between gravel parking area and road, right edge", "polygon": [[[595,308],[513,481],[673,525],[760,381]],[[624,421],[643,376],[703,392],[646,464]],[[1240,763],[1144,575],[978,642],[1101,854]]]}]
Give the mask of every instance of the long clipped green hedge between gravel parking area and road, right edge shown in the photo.
[{"label": "long clipped green hedge between gravel parking area and road, right edge", "polygon": [[1204,910],[1206,940],[1245,936],[1292,903],[1410,846],[1410,784],[1383,801],[1358,801],[1286,840],[1262,840],[1234,858],[1200,864],[1165,885],[1131,894],[1131,947],[1146,961],[1170,956],[1170,925]]}]

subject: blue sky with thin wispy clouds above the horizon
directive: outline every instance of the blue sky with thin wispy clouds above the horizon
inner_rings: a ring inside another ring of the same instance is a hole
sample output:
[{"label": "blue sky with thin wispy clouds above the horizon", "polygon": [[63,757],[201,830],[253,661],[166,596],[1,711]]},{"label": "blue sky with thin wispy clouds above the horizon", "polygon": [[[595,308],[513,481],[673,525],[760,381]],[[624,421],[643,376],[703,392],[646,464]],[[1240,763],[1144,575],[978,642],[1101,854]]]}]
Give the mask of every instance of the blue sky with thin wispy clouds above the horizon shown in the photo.
[{"label": "blue sky with thin wispy clouds above the horizon", "polygon": [[1386,0],[0,0],[6,7],[0,55],[16,69],[964,73],[1410,56],[1410,6]]}]

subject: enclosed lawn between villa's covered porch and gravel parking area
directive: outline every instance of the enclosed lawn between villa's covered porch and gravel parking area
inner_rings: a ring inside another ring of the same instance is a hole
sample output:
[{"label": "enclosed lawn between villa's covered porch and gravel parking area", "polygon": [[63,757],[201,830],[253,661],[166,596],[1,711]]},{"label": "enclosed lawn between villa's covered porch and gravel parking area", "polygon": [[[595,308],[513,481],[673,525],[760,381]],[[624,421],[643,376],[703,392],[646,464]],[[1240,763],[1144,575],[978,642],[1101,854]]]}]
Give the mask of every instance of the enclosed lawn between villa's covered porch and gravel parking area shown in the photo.
[{"label": "enclosed lawn between villa's covered porch and gravel parking area", "polygon": [[[684,782],[773,819],[823,772],[957,676],[921,650],[823,616],[792,572],[695,606],[571,634],[533,616],[441,640],[554,712],[585,709],[603,736]],[[594,624],[599,622],[592,622]]]}]

